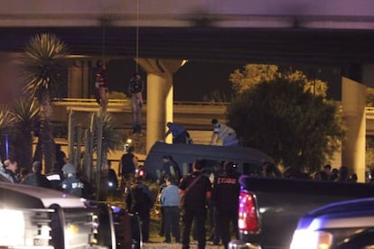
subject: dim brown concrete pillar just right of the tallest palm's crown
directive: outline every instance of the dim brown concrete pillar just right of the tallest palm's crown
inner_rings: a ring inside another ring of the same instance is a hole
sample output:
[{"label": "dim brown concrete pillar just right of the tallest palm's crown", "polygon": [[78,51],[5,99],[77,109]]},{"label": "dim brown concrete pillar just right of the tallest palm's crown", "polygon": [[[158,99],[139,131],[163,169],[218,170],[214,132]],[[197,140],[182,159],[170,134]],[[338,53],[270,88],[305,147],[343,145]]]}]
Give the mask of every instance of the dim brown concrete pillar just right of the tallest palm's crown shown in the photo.
[{"label": "dim brown concrete pillar just right of the tallest palm's crown", "polygon": [[68,97],[89,97],[89,60],[74,60],[68,69]]}]

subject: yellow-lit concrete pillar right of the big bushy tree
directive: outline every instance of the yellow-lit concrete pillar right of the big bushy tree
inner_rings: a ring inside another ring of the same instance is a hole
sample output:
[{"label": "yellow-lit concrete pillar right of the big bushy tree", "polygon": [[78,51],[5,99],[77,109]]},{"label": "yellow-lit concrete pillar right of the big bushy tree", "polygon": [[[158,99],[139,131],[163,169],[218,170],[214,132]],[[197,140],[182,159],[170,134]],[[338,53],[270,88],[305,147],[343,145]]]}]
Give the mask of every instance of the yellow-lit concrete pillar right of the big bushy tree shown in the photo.
[{"label": "yellow-lit concrete pillar right of the big bushy tree", "polygon": [[350,78],[341,78],[341,106],[347,124],[347,139],[342,144],[342,166],[365,181],[366,86]]}]

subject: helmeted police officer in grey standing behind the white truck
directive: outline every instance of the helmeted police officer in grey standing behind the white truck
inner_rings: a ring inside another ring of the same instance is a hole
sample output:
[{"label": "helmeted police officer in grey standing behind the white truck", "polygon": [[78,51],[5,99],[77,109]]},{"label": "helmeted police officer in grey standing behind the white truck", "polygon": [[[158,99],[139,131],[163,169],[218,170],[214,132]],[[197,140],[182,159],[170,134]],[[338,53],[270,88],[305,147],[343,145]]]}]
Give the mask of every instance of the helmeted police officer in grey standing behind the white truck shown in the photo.
[{"label": "helmeted police officer in grey standing behind the white truck", "polygon": [[77,170],[71,163],[66,163],[62,167],[64,180],[61,181],[61,189],[70,195],[82,196],[83,183],[77,178]]}]

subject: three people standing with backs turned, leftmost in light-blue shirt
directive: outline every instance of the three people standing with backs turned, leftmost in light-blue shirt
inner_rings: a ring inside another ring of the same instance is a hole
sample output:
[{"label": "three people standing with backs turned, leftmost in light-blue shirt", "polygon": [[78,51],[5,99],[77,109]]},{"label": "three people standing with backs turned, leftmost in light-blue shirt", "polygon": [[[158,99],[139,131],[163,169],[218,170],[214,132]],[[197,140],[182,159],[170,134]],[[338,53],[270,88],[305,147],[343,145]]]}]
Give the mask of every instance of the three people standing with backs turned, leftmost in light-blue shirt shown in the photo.
[{"label": "three people standing with backs turned, leftmost in light-blue shirt", "polygon": [[209,207],[213,206],[216,243],[221,240],[228,248],[231,230],[236,230],[238,222],[239,184],[234,163],[226,161],[213,183],[204,174],[204,161],[201,160],[194,161],[192,173],[182,177],[179,182],[170,174],[164,174],[164,183],[160,194],[163,217],[161,234],[165,237],[164,242],[171,243],[173,238],[175,243],[182,243],[182,248],[190,248],[190,237],[193,234],[198,241],[198,248],[205,248],[205,222]]}]

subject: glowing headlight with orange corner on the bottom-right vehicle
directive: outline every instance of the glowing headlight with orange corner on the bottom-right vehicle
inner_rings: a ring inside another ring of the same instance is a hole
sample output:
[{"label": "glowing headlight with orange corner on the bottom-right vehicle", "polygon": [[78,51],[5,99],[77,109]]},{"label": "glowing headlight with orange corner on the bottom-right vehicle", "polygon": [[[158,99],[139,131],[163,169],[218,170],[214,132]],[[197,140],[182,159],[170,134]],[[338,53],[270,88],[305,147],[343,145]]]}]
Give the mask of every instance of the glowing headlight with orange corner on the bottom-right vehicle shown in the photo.
[{"label": "glowing headlight with orange corner on the bottom-right vehicle", "polygon": [[332,234],[324,231],[296,230],[290,249],[328,249],[332,245]]}]

